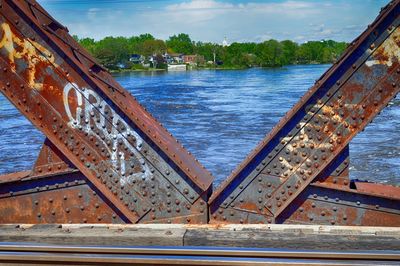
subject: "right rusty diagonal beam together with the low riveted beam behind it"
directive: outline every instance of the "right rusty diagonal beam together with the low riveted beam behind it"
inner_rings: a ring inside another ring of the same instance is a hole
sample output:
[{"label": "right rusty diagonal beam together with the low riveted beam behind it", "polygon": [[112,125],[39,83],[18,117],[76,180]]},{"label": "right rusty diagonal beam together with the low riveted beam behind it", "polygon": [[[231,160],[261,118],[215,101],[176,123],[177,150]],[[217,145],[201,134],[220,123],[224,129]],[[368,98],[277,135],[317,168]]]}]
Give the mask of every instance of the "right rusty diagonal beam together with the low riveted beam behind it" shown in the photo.
[{"label": "right rusty diagonal beam together with the low riveted beam behind it", "polygon": [[396,0],[213,193],[211,223],[400,225],[398,197],[346,173],[349,142],[399,92],[399,23]]}]

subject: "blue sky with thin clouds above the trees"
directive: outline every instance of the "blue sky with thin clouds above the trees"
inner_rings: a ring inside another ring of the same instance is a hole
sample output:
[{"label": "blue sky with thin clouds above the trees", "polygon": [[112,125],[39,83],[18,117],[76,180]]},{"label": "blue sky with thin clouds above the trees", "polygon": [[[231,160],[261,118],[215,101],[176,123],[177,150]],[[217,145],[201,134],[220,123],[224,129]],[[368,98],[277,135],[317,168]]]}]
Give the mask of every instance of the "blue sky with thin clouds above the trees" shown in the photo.
[{"label": "blue sky with thin clouds above the trees", "polygon": [[196,41],[357,37],[389,0],[39,0],[79,37],[151,33],[167,39],[188,33]]}]

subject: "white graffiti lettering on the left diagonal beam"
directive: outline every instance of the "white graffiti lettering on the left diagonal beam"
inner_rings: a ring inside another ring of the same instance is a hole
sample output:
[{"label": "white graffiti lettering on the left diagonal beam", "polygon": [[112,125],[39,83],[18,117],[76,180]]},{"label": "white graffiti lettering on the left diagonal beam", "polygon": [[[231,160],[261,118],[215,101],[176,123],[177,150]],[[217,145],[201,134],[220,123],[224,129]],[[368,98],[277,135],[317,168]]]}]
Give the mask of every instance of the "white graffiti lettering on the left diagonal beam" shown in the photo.
[{"label": "white graffiti lettering on the left diagonal beam", "polygon": [[[139,152],[143,145],[142,138],[96,92],[68,83],[64,87],[63,101],[69,126],[95,136],[103,144],[112,165],[119,169],[122,185],[130,183],[133,178],[150,178],[149,166]],[[76,104],[75,108],[72,103]],[[105,114],[112,120],[111,124]],[[123,130],[118,130],[114,125],[119,125]],[[134,146],[129,137],[135,139]],[[132,163],[132,159],[126,158],[127,153],[133,154],[134,159],[140,162],[140,172],[127,174],[128,164]]]}]

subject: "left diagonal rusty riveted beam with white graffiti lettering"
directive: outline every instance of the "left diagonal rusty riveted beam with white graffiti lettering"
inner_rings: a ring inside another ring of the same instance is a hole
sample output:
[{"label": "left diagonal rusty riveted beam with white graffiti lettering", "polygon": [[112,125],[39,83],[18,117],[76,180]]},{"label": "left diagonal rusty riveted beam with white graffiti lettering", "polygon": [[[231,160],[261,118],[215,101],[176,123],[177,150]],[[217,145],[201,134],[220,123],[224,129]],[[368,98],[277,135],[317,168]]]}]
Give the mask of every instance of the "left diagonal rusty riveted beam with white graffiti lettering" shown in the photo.
[{"label": "left diagonal rusty riveted beam with white graffiti lettering", "polygon": [[47,137],[30,175],[76,169],[129,223],[207,222],[210,173],[36,1],[0,2],[0,71]]}]

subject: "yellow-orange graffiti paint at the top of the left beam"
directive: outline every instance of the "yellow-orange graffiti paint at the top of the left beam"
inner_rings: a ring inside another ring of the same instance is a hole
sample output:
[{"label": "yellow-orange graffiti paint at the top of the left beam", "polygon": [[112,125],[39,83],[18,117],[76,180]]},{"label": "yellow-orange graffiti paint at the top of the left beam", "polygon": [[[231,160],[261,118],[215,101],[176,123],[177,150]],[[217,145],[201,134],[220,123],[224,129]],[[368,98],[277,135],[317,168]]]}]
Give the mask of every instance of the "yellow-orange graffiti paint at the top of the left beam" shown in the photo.
[{"label": "yellow-orange graffiti paint at the top of the left beam", "polygon": [[37,42],[31,39],[21,39],[16,36],[7,23],[2,23],[0,29],[0,34],[2,35],[0,37],[0,51],[4,50],[7,53],[12,71],[17,71],[16,61],[23,59],[28,64],[26,69],[28,71],[29,85],[34,89],[42,90],[43,83],[36,80],[36,72],[39,69],[39,64],[42,69],[51,65],[58,67],[55,64],[54,56]]}]

